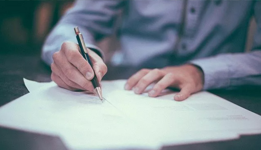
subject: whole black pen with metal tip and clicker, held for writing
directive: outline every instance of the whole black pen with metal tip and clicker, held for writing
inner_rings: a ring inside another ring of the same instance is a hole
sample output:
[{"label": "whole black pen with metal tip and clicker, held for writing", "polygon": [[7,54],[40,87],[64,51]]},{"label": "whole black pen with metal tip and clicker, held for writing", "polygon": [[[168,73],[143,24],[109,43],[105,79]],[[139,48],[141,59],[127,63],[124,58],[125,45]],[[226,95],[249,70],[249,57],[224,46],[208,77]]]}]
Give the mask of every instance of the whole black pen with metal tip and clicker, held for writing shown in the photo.
[{"label": "whole black pen with metal tip and clicker, held for writing", "polygon": [[[79,28],[78,27],[75,27],[74,28],[74,31],[75,31],[75,34],[76,34],[76,38],[77,38],[77,41],[78,41],[78,44],[79,44],[79,47],[80,47],[80,53],[82,54],[82,56],[84,57],[84,59],[86,61],[88,61],[88,63],[91,65],[92,69],[93,69],[93,66],[92,66],[92,62],[91,62],[91,59],[88,55],[88,48],[85,46],[85,43],[84,43],[84,38],[83,38],[83,35],[80,33],[79,31]],[[94,72],[94,71],[93,71]],[[92,85],[96,91],[96,93],[98,94],[99,98],[102,100],[102,90],[101,90],[101,87],[100,87],[100,84],[98,82],[98,79],[95,75],[95,72],[94,72],[94,77],[92,78]]]}]

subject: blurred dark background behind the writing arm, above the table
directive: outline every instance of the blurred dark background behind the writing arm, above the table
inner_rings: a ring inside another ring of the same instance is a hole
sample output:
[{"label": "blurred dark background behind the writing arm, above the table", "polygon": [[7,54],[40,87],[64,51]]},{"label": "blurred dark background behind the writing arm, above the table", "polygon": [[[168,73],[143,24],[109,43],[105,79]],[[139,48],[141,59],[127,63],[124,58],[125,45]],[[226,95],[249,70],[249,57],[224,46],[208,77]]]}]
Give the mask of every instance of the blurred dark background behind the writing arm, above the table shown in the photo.
[{"label": "blurred dark background behind the writing arm, above the table", "polygon": [[[73,6],[73,2],[0,1],[0,55],[40,57],[46,36],[60,17]],[[115,49],[115,44],[109,44],[116,39],[115,35],[112,37],[98,43],[107,58],[111,57]]]}]

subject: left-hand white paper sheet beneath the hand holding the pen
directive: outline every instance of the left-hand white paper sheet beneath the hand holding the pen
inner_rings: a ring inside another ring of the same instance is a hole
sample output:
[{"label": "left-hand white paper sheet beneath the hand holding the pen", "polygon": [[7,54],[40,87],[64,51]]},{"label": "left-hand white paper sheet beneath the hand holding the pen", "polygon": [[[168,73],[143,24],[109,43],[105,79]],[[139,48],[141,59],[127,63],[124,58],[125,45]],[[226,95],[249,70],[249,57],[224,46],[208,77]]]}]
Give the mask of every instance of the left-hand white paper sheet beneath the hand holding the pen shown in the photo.
[{"label": "left-hand white paper sheet beneath the hand holding the pen", "polygon": [[146,130],[108,101],[53,82],[29,82],[32,92],[1,107],[2,126],[58,135],[70,149],[158,148],[153,138],[139,136]]}]

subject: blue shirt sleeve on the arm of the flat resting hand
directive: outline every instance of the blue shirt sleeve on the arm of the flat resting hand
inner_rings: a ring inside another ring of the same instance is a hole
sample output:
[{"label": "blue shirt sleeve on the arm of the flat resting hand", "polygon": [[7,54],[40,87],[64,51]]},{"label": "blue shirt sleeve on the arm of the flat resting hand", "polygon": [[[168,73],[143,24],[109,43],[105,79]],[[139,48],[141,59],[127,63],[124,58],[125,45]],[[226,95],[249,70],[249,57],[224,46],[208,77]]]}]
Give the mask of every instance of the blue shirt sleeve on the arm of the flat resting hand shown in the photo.
[{"label": "blue shirt sleeve on the arm of the flat resting hand", "polygon": [[240,85],[261,85],[261,2],[255,2],[257,29],[249,53],[219,54],[190,63],[204,72],[204,90]]}]

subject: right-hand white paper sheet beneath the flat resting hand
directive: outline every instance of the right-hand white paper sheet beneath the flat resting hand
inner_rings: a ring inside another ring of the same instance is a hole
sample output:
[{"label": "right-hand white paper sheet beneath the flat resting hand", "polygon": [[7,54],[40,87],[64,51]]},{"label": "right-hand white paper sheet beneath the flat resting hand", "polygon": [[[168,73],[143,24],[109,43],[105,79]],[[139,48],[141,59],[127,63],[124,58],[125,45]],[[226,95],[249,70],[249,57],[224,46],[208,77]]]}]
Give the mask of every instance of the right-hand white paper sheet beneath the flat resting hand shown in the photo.
[{"label": "right-hand white paper sheet beneath the flat resting hand", "polygon": [[135,95],[123,89],[125,82],[103,83],[105,87],[111,84],[117,87],[104,91],[104,96],[130,118],[161,135],[164,144],[188,142],[189,134],[196,140],[203,133],[209,139],[215,139],[217,135],[213,133],[223,134],[223,138],[230,133],[261,133],[261,116],[209,92],[199,92],[178,102],[173,100],[173,93],[156,98],[148,97],[147,93]]}]

